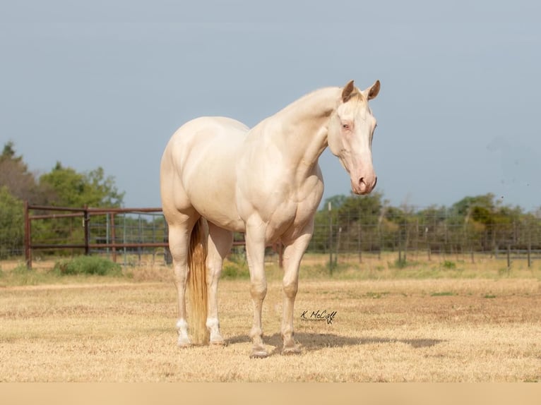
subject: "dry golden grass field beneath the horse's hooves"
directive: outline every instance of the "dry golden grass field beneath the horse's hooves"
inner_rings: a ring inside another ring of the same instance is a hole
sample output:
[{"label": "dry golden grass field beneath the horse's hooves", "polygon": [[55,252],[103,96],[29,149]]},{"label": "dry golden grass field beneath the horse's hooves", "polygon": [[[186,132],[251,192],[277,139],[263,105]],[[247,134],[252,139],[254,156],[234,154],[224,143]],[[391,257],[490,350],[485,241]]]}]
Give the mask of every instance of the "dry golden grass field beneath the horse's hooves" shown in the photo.
[{"label": "dry golden grass field beneath the horse's hooves", "polygon": [[[9,265],[0,268],[2,382],[541,380],[539,270],[397,277],[380,269],[375,277],[370,269],[331,279],[303,269],[295,306],[303,352],[282,356],[280,275],[271,269],[263,330],[272,354],[250,359],[246,279],[220,282],[227,346],[179,349],[170,270],[57,282],[36,275],[17,285],[6,281]],[[318,310],[335,312],[332,322],[313,320]]]}]

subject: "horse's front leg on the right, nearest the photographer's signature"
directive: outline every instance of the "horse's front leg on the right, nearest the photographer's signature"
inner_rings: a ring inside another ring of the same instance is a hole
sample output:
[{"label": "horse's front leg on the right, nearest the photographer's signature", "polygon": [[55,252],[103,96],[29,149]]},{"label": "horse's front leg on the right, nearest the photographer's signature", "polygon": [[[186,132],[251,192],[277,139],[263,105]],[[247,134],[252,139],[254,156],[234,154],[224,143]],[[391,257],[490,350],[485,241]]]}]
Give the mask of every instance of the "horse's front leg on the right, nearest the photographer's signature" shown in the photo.
[{"label": "horse's front leg on the right, nearest the photographer's signature", "polygon": [[304,250],[308,247],[311,238],[311,227],[307,229],[307,233],[302,234],[292,242],[285,241],[284,248],[284,305],[282,318],[282,339],[283,339],[283,354],[300,353],[301,349],[298,344],[295,344],[293,339],[293,309],[295,306],[295,297],[299,286],[299,266],[304,255]]}]

